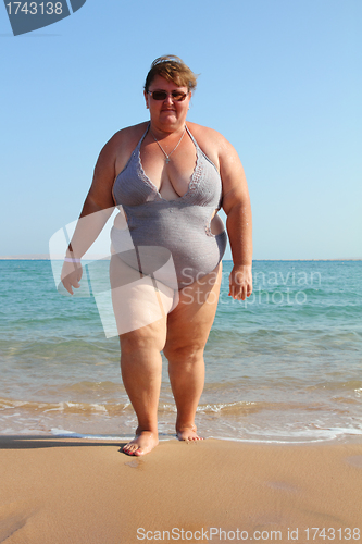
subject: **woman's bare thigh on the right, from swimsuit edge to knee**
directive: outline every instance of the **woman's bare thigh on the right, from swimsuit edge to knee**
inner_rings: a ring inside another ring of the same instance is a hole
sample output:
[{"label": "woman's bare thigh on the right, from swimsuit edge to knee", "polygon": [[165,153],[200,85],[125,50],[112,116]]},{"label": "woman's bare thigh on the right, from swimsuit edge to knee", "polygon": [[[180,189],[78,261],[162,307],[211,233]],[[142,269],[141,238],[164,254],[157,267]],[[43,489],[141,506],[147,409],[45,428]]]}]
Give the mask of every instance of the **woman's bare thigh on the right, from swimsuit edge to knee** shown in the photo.
[{"label": "woman's bare thigh on the right, from swimsuit edge to knee", "polygon": [[174,349],[203,348],[215,318],[222,263],[179,292],[178,305],[167,316],[165,356]]}]

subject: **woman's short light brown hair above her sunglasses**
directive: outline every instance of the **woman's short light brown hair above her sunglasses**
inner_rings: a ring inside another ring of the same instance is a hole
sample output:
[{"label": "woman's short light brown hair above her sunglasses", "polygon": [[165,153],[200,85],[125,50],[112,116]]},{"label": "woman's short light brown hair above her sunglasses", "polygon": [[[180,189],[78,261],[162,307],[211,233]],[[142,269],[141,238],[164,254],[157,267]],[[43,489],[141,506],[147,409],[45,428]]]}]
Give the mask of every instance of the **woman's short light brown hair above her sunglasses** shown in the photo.
[{"label": "woman's short light brown hair above her sunglasses", "polygon": [[197,75],[175,54],[159,57],[152,64],[146,77],[145,90],[148,92],[154,77],[160,75],[178,87],[187,87],[188,91],[196,89]]}]

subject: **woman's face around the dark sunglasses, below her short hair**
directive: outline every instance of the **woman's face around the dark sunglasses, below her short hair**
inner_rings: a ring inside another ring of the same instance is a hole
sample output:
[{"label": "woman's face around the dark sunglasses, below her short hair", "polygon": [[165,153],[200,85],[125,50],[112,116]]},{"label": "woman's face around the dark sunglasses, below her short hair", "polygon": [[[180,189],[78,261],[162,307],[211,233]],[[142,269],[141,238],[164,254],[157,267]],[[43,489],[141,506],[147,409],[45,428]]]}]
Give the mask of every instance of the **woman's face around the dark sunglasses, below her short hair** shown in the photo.
[{"label": "woman's face around the dark sunglasses, below her short hair", "polygon": [[[184,126],[191,98],[191,92],[187,91],[187,87],[178,87],[175,83],[167,82],[164,77],[157,75],[149,88],[149,91],[153,90],[165,90],[167,97],[164,100],[154,100],[149,92],[145,92],[146,106],[150,110],[151,123],[165,132],[173,132]],[[174,100],[171,96],[173,90],[185,92],[187,95],[185,100]]]}]

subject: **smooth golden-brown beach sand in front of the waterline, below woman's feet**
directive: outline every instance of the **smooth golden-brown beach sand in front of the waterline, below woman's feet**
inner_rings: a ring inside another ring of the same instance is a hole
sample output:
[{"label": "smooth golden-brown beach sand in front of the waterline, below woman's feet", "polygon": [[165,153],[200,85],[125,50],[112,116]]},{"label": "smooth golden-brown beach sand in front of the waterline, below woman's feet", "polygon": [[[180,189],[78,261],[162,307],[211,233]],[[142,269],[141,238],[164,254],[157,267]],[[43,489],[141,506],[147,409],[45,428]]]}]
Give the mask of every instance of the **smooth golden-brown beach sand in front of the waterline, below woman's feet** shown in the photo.
[{"label": "smooth golden-brown beach sand in front of the waterline, below woman's feet", "polygon": [[122,445],[1,436],[0,542],[361,540],[360,443]]}]

